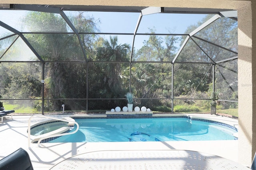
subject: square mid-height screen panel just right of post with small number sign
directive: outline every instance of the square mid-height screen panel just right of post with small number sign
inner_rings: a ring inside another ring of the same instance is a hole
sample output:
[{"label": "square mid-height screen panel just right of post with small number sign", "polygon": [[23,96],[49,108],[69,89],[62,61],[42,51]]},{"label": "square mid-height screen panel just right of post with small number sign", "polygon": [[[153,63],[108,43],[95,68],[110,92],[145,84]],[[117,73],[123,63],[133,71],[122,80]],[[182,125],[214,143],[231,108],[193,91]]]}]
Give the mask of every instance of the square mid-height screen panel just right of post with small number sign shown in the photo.
[{"label": "square mid-height screen panel just right of post with small number sign", "polygon": [[46,63],[46,98],[86,98],[85,63]]}]

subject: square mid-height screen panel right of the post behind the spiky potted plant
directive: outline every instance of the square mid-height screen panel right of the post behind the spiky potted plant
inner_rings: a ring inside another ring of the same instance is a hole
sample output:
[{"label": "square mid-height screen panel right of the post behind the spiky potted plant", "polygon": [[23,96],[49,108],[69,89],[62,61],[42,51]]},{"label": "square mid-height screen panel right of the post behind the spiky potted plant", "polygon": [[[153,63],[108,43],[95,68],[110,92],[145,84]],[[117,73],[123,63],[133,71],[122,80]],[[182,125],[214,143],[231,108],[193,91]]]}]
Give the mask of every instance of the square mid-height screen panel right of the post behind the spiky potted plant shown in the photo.
[{"label": "square mid-height screen panel right of the post behind the spiky potted plant", "polygon": [[136,98],[171,98],[172,64],[133,63],[131,74]]}]

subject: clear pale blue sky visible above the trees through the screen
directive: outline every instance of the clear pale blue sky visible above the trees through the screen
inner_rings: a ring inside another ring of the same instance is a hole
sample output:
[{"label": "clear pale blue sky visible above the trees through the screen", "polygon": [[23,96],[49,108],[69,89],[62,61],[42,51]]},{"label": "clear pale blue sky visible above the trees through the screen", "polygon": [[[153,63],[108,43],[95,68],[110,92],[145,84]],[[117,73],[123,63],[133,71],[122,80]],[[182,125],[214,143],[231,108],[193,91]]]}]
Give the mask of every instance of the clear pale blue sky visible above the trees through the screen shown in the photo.
[{"label": "clear pale blue sky visible above the trees through the screen", "polygon": [[[7,23],[11,27],[20,30],[20,21],[27,11],[21,10],[1,10],[0,21]],[[68,16],[73,12],[65,11]],[[95,20],[100,20],[100,30],[102,33],[134,33],[140,13],[127,12],[84,12],[85,15],[93,16]],[[154,29],[156,33],[185,33],[189,25],[197,24],[204,18],[205,14],[150,14],[142,17],[137,33],[149,33]],[[0,27],[0,35],[5,32]],[[110,35],[101,35],[109,39]],[[143,40],[149,36],[136,35],[134,47],[140,49]],[[118,35],[120,44],[128,43],[132,45],[133,35]]]}]

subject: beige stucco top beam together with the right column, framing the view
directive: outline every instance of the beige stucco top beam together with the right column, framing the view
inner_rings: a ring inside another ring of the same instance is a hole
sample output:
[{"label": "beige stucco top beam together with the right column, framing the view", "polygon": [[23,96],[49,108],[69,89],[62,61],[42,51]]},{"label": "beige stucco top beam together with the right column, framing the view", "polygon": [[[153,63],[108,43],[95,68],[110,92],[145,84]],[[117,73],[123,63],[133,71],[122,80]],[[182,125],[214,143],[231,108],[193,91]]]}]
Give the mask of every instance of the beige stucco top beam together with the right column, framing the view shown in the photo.
[{"label": "beige stucco top beam together with the right column, framing the view", "polygon": [[238,10],[238,113],[240,125],[238,160],[240,163],[250,166],[256,151],[256,113],[254,114],[256,111],[255,0],[0,0],[0,4],[159,6]]}]

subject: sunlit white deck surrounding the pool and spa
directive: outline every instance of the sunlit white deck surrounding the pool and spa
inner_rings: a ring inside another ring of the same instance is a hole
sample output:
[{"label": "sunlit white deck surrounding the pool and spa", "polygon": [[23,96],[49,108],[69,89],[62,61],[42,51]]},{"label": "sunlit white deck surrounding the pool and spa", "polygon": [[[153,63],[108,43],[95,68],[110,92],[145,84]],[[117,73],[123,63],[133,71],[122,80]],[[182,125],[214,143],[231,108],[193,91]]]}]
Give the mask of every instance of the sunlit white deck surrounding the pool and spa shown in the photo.
[{"label": "sunlit white deck surrounding the pool and spa", "polygon": [[[49,115],[62,118],[70,115]],[[210,114],[192,114],[214,121],[221,121],[238,128],[238,120]],[[28,119],[31,115],[13,115],[13,119],[4,119],[0,123],[0,159],[22,147],[32,161],[34,170],[49,170],[55,164],[76,154],[102,150],[194,150],[233,160],[238,159],[238,141],[167,141],[167,142],[104,142],[104,143],[43,143],[30,144],[28,148]],[[42,117],[33,117],[31,125],[44,121]],[[239,139],[238,139],[239,140]],[[250,165],[246,165],[250,166]]]}]

